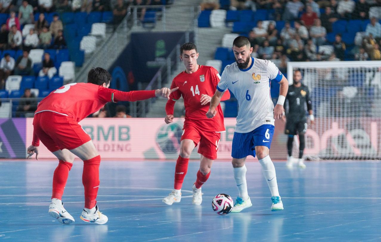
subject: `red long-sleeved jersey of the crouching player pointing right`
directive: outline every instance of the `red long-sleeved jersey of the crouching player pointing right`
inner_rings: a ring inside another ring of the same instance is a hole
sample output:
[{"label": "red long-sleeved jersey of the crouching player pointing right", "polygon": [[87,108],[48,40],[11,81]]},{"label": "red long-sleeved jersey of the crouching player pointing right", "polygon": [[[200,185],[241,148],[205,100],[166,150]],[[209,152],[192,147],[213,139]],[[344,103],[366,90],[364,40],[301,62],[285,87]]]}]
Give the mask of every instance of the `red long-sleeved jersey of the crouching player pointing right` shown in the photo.
[{"label": "red long-sleeved jersey of the crouching player pointing right", "polygon": [[46,96],[35,113],[53,111],[79,122],[108,102],[138,101],[154,96],[155,90],[122,92],[92,83],[70,83]]}]

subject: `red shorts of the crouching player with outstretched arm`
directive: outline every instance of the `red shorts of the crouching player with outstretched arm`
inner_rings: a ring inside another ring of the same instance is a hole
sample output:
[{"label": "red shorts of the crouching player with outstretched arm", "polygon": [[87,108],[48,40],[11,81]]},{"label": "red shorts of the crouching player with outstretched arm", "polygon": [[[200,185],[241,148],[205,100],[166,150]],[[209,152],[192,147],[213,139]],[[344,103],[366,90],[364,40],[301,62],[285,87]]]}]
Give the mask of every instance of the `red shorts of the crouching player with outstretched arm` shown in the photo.
[{"label": "red shorts of the crouching player with outstretched arm", "polygon": [[38,138],[51,152],[72,150],[91,140],[77,121],[54,112],[35,114],[33,127]]}]

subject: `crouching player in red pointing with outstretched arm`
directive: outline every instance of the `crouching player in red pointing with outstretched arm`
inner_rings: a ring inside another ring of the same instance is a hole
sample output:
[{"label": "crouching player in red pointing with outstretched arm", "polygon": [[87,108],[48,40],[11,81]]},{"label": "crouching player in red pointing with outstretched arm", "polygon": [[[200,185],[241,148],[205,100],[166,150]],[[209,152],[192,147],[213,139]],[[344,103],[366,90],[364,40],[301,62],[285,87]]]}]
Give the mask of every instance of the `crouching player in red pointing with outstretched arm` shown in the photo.
[{"label": "crouching player in red pointing with outstretched arm", "polygon": [[96,205],[101,157],[90,136],[78,122],[98,111],[108,102],[138,101],[154,96],[169,98],[171,91],[177,89],[121,92],[109,89],[110,81],[110,73],[100,67],[93,68],[88,73],[88,83],[64,85],[51,92],[37,106],[33,120],[33,141],[27,151],[29,157],[36,153],[38,160],[38,146],[41,140],[59,160],[53,175],[53,194],[49,214],[60,223],[74,222],[74,218],[64,209],[61,199],[75,155],[83,160],[82,183],[85,188],[85,209],[80,218],[96,224],[104,224],[108,220],[106,215],[99,212]]}]

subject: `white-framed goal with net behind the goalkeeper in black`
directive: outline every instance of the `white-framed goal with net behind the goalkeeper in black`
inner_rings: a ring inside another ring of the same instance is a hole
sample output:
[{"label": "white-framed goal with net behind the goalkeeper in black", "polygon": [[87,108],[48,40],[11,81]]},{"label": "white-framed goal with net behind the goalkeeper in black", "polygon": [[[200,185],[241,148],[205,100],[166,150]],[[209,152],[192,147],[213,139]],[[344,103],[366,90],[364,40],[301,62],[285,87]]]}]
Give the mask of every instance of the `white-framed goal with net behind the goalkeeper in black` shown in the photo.
[{"label": "white-framed goal with net behind the goalkeeper in black", "polygon": [[309,87],[315,115],[306,157],[381,159],[381,62],[288,62],[290,84],[296,69]]}]

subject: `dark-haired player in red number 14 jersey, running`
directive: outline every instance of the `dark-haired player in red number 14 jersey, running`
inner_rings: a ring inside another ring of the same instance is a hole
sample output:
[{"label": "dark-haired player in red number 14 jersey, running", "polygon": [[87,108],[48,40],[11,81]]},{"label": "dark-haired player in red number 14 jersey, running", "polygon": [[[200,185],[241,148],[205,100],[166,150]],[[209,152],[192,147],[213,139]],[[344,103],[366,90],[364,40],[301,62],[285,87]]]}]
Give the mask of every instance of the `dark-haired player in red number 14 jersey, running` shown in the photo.
[{"label": "dark-haired player in red number 14 jersey, running", "polygon": [[[197,65],[197,47],[193,43],[185,43],[180,47],[180,59],[186,70],[178,74],[172,81],[171,88],[179,89],[171,93],[165,111],[165,122],[173,122],[174,103],[181,96],[184,98],[185,122],[184,132],[181,136],[180,154],[176,161],[174,174],[174,189],[163,199],[165,204],[180,202],[181,187],[188,170],[189,157],[192,150],[200,142],[199,153],[201,154],[200,169],[193,185],[192,203],[199,205],[202,202],[201,186],[208,180],[213,160],[217,158],[220,133],[225,131],[224,117],[221,106],[218,106],[217,119],[208,119],[208,103],[216,91],[220,80],[218,71],[211,66]],[[226,92],[223,100],[230,98]]]}]

